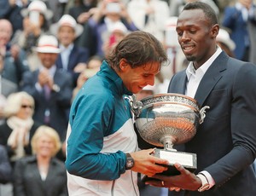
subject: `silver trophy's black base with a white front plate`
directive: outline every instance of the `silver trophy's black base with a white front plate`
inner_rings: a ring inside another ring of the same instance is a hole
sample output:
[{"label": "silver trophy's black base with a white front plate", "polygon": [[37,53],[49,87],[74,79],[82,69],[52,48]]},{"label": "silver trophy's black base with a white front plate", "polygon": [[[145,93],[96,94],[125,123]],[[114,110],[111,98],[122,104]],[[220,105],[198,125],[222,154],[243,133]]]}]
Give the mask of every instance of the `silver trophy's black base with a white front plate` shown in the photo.
[{"label": "silver trophy's black base with a white front plate", "polygon": [[[154,150],[154,156],[160,159],[166,159],[169,161],[168,170],[163,171],[160,173],[161,175],[166,176],[177,176],[180,174],[179,170],[176,169],[174,166],[175,163],[182,164],[186,170],[190,172],[194,172],[197,168],[196,166],[196,154],[195,153],[184,153],[184,152],[177,152],[177,151],[170,151],[166,149],[158,149]],[[142,182],[150,181],[150,180],[157,180],[152,177],[143,176]]]}]

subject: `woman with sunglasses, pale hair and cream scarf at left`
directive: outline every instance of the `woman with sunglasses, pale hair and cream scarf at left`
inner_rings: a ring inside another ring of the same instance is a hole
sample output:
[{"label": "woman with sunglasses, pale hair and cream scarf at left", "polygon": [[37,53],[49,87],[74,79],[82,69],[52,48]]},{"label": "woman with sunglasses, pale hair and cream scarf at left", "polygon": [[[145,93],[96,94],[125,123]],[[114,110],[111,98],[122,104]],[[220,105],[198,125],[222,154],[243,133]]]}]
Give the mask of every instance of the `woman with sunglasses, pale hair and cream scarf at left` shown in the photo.
[{"label": "woman with sunglasses, pale hair and cream scarf at left", "polygon": [[3,109],[6,120],[0,125],[0,144],[7,147],[12,165],[17,159],[32,154],[32,135],[40,125],[33,121],[33,111],[31,95],[20,91],[8,96]]}]

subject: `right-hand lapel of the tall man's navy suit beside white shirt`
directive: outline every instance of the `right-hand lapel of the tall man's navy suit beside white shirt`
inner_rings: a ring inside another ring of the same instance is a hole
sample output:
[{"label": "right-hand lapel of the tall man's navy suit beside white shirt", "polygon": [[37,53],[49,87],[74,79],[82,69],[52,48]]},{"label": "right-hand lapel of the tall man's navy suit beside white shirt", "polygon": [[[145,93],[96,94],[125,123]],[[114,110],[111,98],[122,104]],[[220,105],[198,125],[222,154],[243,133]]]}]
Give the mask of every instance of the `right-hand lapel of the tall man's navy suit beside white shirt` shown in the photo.
[{"label": "right-hand lapel of the tall man's navy suit beside white shirt", "polygon": [[217,59],[213,61],[212,65],[208,68],[204,77],[201,79],[201,83],[195,93],[195,100],[198,101],[200,106],[203,106],[207,96],[211,93],[215,84],[222,78],[224,70],[226,70],[227,61],[229,56],[222,52],[218,55]]}]

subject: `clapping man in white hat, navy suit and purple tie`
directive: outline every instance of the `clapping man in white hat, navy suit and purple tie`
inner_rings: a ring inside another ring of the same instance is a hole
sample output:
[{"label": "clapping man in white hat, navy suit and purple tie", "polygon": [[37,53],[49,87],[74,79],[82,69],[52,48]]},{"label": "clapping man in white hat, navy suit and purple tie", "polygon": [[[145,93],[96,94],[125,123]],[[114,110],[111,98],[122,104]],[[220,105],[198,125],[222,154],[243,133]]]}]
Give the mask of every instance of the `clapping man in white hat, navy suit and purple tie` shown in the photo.
[{"label": "clapping man in white hat, navy suit and purple tie", "polygon": [[72,77],[55,66],[60,52],[56,37],[40,37],[37,52],[41,65],[38,70],[24,74],[22,90],[35,100],[33,118],[57,130],[64,141],[73,90]]}]

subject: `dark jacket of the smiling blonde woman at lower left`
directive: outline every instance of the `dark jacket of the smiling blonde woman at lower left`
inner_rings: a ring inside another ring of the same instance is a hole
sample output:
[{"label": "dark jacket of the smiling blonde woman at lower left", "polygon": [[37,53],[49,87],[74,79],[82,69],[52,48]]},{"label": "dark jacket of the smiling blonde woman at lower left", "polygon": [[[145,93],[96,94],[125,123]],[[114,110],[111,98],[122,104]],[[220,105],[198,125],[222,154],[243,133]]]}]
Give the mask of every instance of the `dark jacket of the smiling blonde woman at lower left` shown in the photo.
[{"label": "dark jacket of the smiling blonde woman at lower left", "polygon": [[51,159],[48,176],[42,181],[35,156],[20,159],[14,171],[15,196],[66,196],[67,173],[64,163]]}]

